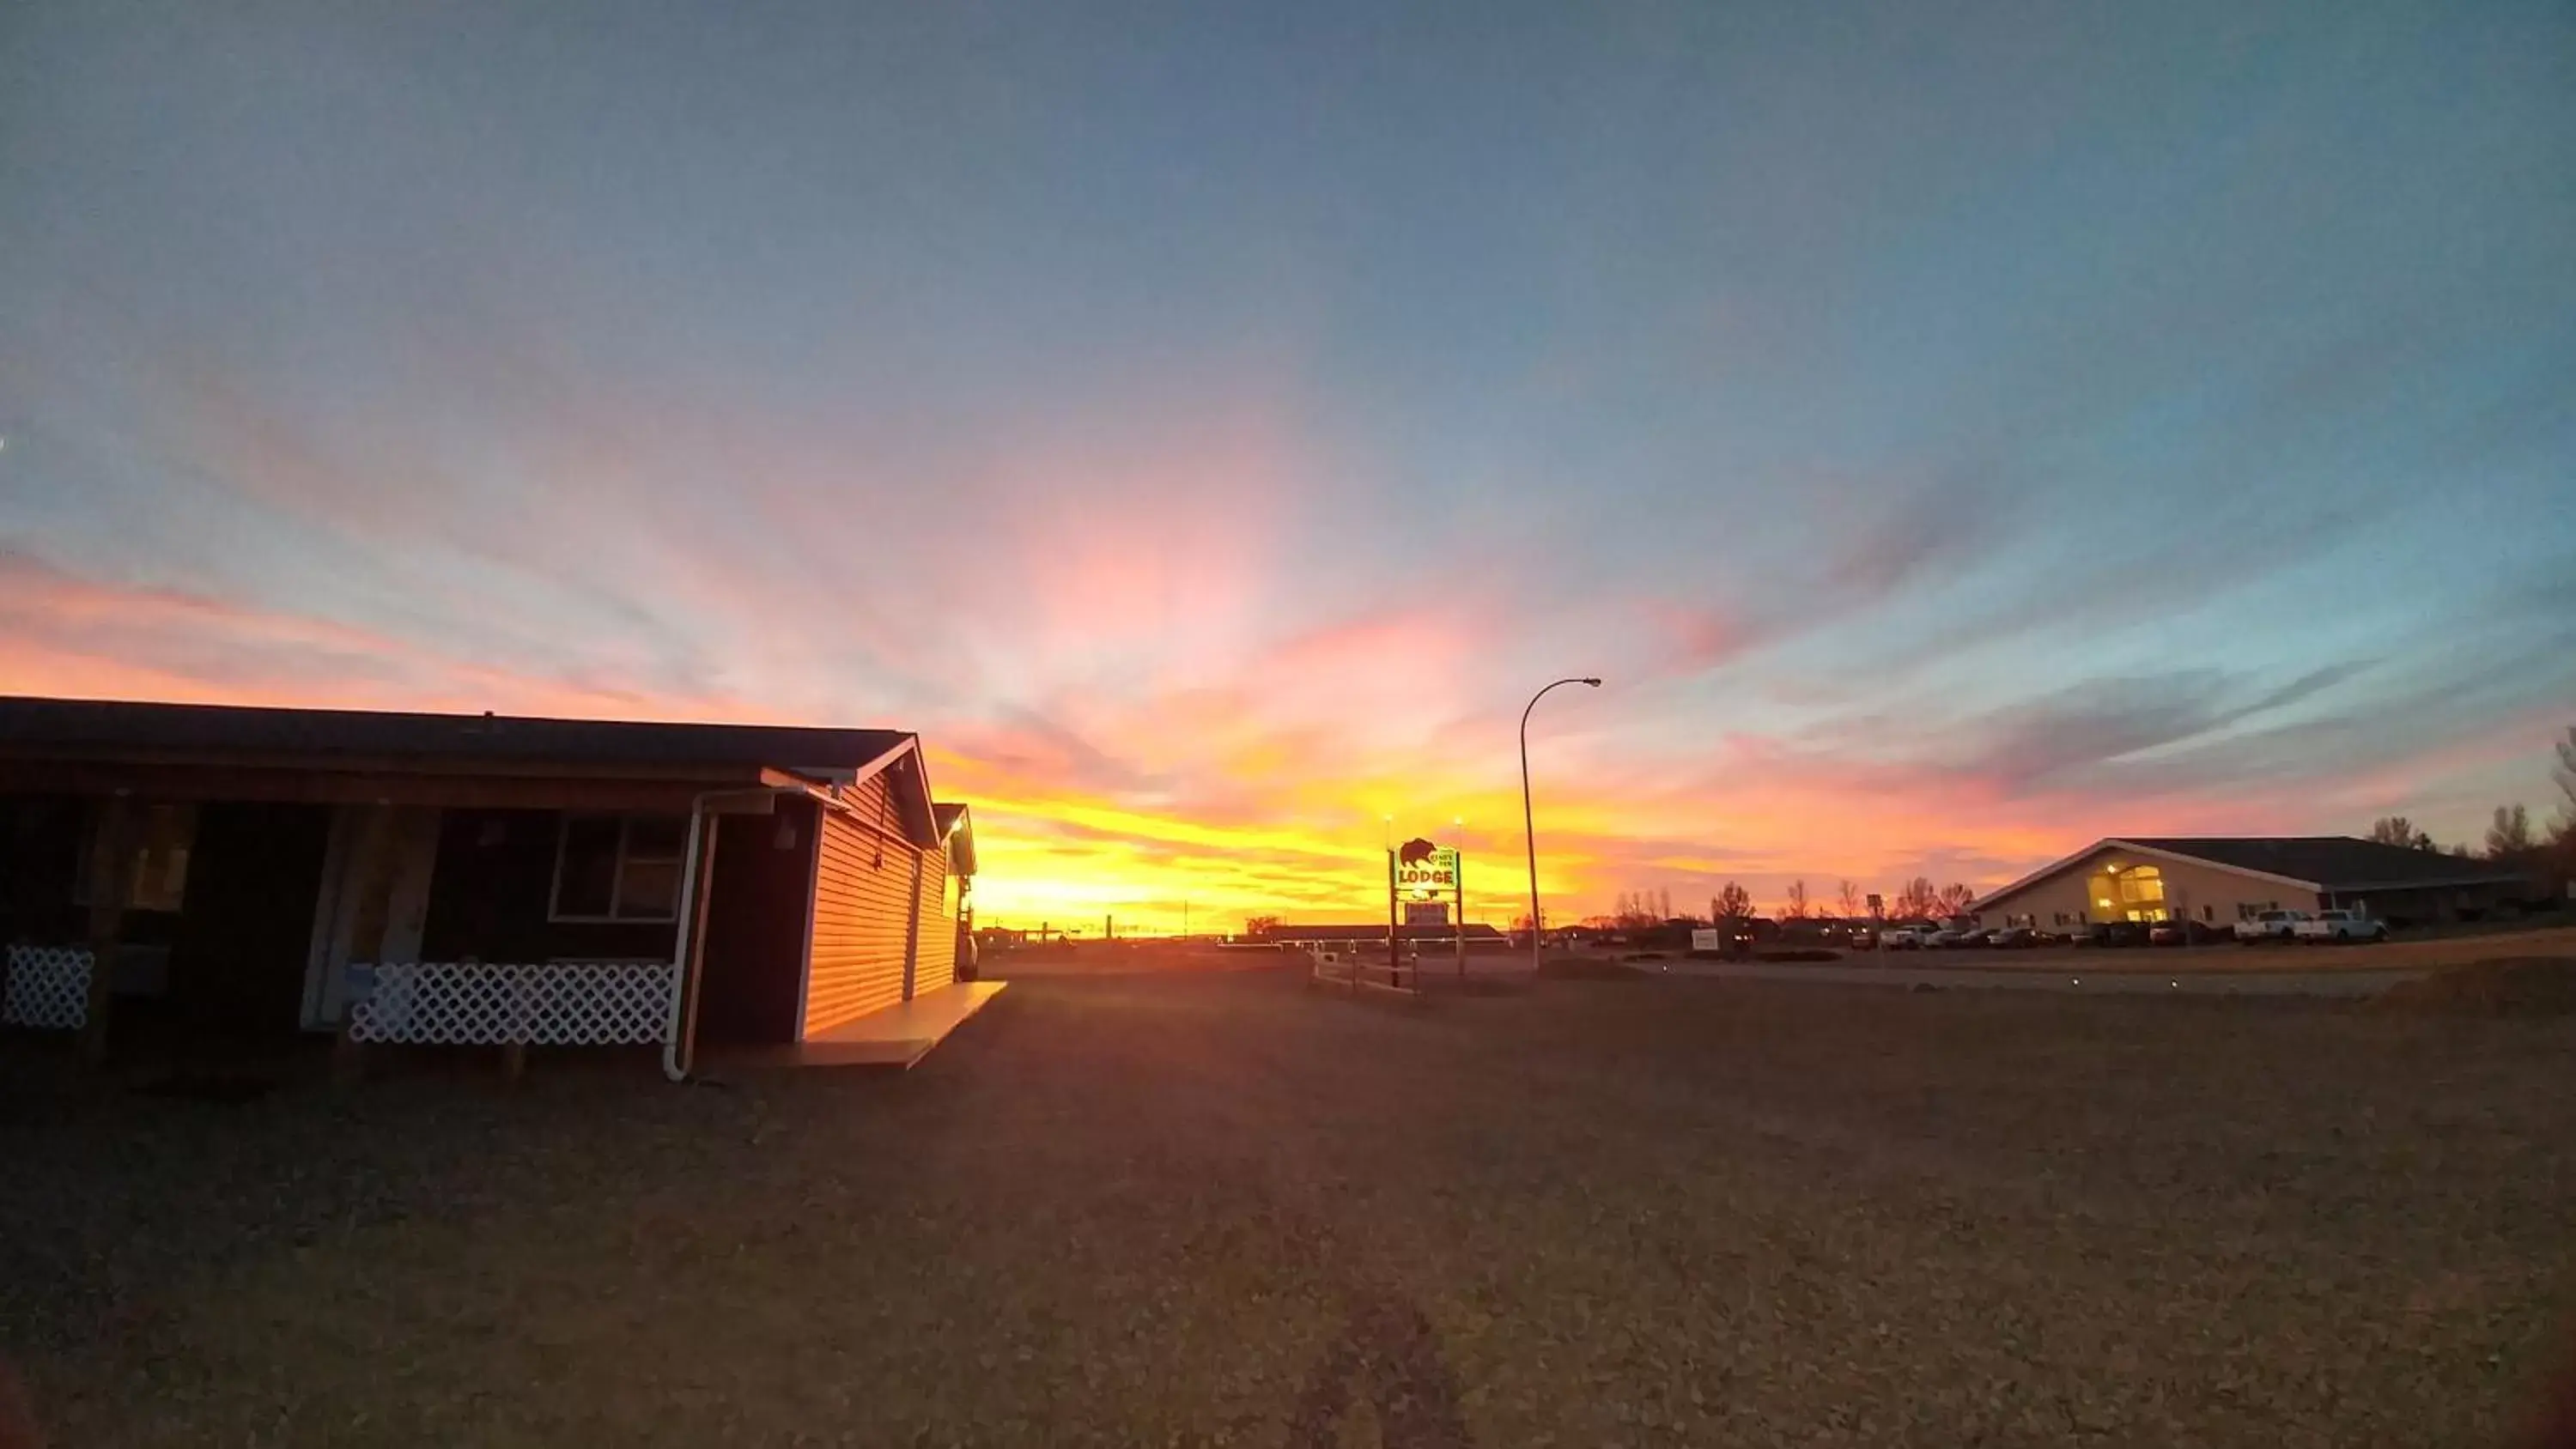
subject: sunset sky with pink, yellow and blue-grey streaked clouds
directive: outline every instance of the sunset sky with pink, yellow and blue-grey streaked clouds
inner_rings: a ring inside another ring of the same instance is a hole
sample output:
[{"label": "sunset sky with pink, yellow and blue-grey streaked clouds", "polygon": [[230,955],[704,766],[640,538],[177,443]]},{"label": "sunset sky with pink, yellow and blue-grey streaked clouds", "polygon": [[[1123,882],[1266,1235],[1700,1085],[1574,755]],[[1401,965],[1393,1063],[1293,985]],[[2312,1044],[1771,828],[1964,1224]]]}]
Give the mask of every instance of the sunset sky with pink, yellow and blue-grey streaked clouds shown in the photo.
[{"label": "sunset sky with pink, yellow and blue-grey streaked clouds", "polygon": [[0,10],[0,692],[894,726],[987,924],[2476,839],[2576,10]]}]

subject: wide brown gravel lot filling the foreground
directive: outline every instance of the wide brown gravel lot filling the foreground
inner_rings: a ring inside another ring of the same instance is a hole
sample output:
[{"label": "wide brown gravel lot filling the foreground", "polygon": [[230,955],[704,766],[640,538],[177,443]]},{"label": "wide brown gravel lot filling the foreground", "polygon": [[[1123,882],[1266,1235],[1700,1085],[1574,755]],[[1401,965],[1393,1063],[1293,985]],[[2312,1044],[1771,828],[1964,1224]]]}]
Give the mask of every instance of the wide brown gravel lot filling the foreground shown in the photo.
[{"label": "wide brown gravel lot filling the foreground", "polygon": [[18,1055],[57,1444],[2481,1444],[2576,1307],[2563,1019],[1255,973],[721,1091]]}]

